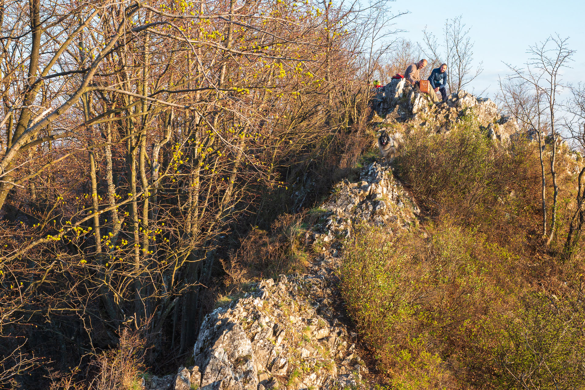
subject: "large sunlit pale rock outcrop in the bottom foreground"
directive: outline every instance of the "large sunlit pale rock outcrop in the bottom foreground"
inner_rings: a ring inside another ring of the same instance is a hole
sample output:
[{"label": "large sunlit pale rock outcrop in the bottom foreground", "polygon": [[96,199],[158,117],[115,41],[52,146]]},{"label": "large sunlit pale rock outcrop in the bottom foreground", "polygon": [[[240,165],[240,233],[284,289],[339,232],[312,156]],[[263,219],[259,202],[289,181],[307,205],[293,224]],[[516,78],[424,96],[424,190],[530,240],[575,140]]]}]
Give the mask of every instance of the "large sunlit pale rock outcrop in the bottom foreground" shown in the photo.
[{"label": "large sunlit pale rock outcrop in the bottom foreground", "polygon": [[[256,390],[274,386],[270,382],[275,380],[300,389],[331,384],[335,357],[346,355],[347,342],[340,337],[347,332],[331,326],[307,301],[313,283],[308,279],[281,275],[277,282],[264,280],[244,298],[205,317],[194,347],[199,385]],[[302,373],[292,375],[295,370]]]}]

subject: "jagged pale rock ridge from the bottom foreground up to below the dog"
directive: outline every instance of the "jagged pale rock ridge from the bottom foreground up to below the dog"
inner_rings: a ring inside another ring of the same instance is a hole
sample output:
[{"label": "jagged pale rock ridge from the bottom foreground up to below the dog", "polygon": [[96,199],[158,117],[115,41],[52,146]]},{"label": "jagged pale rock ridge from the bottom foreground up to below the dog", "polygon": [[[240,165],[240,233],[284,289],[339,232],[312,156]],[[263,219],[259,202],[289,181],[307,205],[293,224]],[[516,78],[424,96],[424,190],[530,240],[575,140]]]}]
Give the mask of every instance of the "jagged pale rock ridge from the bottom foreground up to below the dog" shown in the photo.
[{"label": "jagged pale rock ridge from the bottom foreground up to below the dog", "polygon": [[399,234],[417,223],[415,202],[390,167],[373,163],[333,188],[305,236],[316,253],[305,274],[280,275],[204,319],[192,367],[153,377],[147,389],[369,388],[337,288],[343,239],[358,223]]}]

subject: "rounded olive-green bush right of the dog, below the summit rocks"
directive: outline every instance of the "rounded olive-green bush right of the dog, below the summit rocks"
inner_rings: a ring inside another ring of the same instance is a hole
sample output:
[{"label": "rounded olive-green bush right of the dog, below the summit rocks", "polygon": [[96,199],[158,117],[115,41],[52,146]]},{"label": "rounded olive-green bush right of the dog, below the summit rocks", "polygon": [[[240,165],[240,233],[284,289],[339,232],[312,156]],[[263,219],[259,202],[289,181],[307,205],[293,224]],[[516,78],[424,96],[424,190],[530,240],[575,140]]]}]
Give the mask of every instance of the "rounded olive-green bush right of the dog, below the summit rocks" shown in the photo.
[{"label": "rounded olive-green bush right of the dog, below the summit rocks", "polygon": [[438,212],[469,217],[494,206],[498,196],[508,197],[516,180],[507,174],[522,172],[525,157],[521,147],[510,154],[494,147],[477,126],[465,125],[447,135],[412,131],[398,165],[402,177]]}]

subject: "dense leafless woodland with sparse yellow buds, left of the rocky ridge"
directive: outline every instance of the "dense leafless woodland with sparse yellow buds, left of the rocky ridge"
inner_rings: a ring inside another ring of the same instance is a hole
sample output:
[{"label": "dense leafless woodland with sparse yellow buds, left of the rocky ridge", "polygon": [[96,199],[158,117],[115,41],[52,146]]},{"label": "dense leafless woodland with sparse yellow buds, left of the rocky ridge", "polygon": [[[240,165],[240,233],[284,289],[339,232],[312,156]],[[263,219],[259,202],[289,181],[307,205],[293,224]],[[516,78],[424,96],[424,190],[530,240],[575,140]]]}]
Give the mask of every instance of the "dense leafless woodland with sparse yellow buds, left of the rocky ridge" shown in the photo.
[{"label": "dense leafless woodland with sparse yellow buds, left of the rocky ridge", "polygon": [[238,234],[362,153],[384,6],[2,1],[0,382],[91,377],[124,329],[174,370]]}]

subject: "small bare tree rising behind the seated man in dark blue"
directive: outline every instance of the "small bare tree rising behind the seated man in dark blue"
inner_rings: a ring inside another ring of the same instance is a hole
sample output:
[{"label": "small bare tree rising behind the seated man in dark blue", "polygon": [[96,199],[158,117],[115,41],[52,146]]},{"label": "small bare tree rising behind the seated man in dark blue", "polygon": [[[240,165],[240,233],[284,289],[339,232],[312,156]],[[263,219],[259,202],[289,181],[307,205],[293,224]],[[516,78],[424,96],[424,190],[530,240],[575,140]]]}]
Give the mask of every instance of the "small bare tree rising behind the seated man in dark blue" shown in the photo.
[{"label": "small bare tree rising behind the seated man in dark blue", "polygon": [[447,82],[450,94],[458,94],[483,71],[483,62],[475,68],[473,66],[474,42],[469,36],[471,28],[466,28],[462,19],[463,16],[459,15],[445,20],[441,40],[426,27],[423,30],[424,47],[421,50],[429,58],[429,67],[438,67],[442,63],[448,65]]}]

